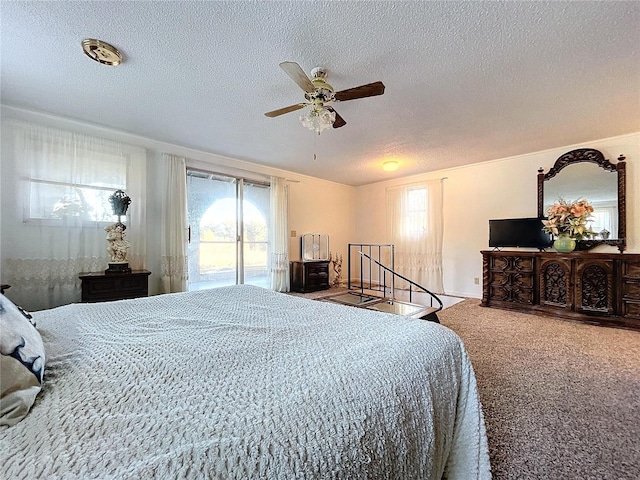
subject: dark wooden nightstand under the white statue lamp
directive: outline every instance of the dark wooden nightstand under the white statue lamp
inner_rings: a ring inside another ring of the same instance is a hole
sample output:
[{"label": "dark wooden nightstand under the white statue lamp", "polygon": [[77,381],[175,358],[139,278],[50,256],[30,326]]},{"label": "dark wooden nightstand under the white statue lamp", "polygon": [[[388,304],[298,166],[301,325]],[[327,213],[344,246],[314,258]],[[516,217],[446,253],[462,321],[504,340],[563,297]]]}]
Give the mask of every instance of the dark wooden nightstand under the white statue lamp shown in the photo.
[{"label": "dark wooden nightstand under the white statue lamp", "polygon": [[83,302],[109,302],[149,295],[148,270],[131,273],[86,272],[80,274]]}]

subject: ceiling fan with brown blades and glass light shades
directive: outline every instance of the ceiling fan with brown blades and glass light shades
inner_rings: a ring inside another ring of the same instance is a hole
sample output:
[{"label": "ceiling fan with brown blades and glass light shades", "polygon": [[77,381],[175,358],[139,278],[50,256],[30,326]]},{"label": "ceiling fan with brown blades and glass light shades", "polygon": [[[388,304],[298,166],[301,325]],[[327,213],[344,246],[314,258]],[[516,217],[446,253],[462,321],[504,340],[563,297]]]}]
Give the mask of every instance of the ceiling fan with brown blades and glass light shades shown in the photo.
[{"label": "ceiling fan with brown blades and glass light shades", "polygon": [[347,124],[347,122],[338,115],[338,112],[336,112],[333,107],[327,106],[326,103],[334,101],[345,102],[347,100],[373,97],[384,93],[384,84],[382,82],[368,83],[359,87],[336,92],[326,81],[327,70],[321,67],[316,67],[311,70],[312,78],[309,78],[296,62],[282,62],[280,68],[304,90],[304,98],[306,101],[267,112],[265,115],[267,117],[277,117],[285,113],[300,110],[304,107],[310,107],[307,115],[300,116],[300,121],[305,127],[318,132],[318,135],[325,128],[331,126],[333,128],[340,128]]}]

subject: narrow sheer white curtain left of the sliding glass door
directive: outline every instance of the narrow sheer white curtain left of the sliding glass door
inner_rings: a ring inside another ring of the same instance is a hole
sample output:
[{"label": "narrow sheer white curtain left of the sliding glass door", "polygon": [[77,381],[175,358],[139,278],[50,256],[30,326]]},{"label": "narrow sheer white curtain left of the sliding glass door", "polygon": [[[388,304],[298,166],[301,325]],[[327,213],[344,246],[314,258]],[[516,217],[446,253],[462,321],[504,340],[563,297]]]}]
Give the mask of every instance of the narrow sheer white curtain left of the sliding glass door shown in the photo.
[{"label": "narrow sheer white curtain left of the sliding glass door", "polygon": [[165,169],[162,199],[162,293],[186,292],[187,266],[187,167],[183,157],[162,154]]}]

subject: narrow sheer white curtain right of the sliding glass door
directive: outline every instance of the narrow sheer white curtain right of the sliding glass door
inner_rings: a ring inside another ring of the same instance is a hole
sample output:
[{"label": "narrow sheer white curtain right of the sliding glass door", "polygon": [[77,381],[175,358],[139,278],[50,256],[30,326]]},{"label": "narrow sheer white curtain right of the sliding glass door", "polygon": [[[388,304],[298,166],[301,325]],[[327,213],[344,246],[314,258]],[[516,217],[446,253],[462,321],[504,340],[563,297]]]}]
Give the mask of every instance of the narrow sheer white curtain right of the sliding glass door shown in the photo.
[{"label": "narrow sheer white curtain right of the sliding glass door", "polygon": [[271,177],[269,270],[271,289],[289,291],[289,189],[286,180]]}]

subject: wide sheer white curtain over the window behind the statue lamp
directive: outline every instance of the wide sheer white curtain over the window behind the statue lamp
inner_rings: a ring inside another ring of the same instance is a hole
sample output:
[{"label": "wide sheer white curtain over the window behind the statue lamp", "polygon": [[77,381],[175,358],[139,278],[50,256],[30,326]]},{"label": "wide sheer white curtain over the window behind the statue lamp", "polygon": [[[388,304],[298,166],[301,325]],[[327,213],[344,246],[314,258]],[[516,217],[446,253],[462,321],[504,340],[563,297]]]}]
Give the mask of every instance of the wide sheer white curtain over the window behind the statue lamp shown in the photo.
[{"label": "wide sheer white curtain over the window behind the statue lamp", "polygon": [[104,227],[109,196],[124,190],[131,268],[146,260],[143,148],[5,119],[2,129],[2,283],[32,310],[80,301],[81,272],[110,260]]}]

